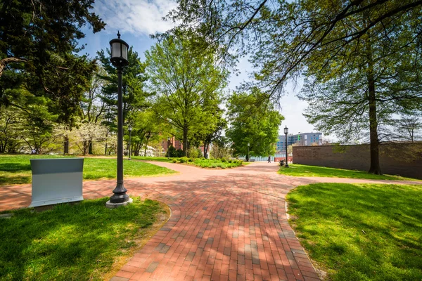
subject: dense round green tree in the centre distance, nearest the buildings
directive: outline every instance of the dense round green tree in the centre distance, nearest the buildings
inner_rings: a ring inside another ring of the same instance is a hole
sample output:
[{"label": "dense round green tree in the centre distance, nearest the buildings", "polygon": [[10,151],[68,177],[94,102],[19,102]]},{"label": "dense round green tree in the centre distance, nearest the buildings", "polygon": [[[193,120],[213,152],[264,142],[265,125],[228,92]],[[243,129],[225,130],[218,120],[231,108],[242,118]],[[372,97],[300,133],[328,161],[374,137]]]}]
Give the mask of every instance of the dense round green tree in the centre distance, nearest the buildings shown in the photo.
[{"label": "dense round green tree in the centre distance, nearest the buildings", "polygon": [[234,155],[273,155],[279,140],[279,126],[284,119],[271,103],[261,102],[262,93],[234,93],[229,98],[230,127],[226,136],[230,139]]}]

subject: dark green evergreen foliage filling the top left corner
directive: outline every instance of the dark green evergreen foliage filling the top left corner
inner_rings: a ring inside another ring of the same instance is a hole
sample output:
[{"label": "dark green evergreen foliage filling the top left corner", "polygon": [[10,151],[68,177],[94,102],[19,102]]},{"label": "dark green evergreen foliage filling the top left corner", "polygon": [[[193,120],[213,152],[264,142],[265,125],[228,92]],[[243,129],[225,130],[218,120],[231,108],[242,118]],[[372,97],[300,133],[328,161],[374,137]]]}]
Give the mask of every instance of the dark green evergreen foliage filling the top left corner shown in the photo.
[{"label": "dark green evergreen foliage filling the top left corner", "polygon": [[95,63],[75,55],[82,48],[80,28],[94,32],[105,23],[91,12],[93,0],[1,1],[0,105],[15,105],[8,89],[25,87],[51,100],[49,111],[60,122],[72,122]]}]

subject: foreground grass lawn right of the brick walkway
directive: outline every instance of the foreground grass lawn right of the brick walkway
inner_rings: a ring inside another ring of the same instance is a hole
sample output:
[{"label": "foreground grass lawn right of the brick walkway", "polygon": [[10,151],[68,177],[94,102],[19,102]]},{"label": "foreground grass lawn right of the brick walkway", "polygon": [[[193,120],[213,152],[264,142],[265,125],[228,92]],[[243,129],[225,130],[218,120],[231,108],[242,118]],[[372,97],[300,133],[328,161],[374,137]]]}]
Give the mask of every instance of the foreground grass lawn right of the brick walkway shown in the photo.
[{"label": "foreground grass lawn right of the brick walkway", "polygon": [[318,183],[287,195],[328,280],[422,280],[422,186]]}]

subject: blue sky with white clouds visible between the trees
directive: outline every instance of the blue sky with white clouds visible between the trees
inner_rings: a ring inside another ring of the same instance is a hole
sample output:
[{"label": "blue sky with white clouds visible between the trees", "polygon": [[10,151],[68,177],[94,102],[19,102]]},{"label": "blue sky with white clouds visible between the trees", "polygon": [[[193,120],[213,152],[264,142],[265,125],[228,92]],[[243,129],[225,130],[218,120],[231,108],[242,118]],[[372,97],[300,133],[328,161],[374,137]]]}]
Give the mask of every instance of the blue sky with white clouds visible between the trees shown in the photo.
[{"label": "blue sky with white clouds visible between the trees", "polygon": [[[117,38],[117,31],[120,31],[120,38],[129,46],[133,46],[141,60],[145,60],[143,53],[156,43],[154,39],[151,39],[150,34],[165,32],[173,27],[172,22],[166,22],[162,18],[176,7],[176,3],[171,0],[96,0],[94,12],[106,22],[106,30],[94,34],[89,27],[84,27],[82,31],[86,37],[79,41],[79,44],[86,44],[86,46],[81,53],[87,53],[94,58],[97,51],[110,47],[108,42]],[[252,71],[252,67],[247,58],[241,58],[238,69],[241,70],[241,74],[230,77],[230,90],[236,89],[242,81],[248,80],[248,72]],[[285,126],[288,126],[289,133],[315,131],[314,126],[309,124],[302,115],[307,103],[295,96],[300,87],[295,88],[292,84],[288,84],[286,89],[286,96],[280,100],[280,112],[285,119],[279,133],[283,133]]]}]

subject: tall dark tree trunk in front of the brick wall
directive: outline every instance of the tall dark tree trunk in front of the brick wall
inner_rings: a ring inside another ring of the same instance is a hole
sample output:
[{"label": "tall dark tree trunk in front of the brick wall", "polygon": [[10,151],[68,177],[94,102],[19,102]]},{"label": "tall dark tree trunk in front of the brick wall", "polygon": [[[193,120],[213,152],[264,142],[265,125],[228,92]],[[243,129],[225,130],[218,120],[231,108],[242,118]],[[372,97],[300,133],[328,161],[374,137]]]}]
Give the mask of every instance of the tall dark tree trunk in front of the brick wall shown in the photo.
[{"label": "tall dark tree trunk in front of the brick wall", "polygon": [[380,157],[379,157],[379,140],[378,140],[378,120],[376,116],[376,93],[375,79],[373,75],[373,58],[371,39],[366,38],[366,59],[368,60],[368,89],[369,89],[369,137],[371,140],[371,166],[369,173],[381,175]]}]

